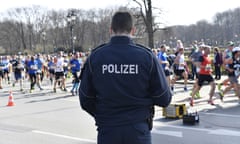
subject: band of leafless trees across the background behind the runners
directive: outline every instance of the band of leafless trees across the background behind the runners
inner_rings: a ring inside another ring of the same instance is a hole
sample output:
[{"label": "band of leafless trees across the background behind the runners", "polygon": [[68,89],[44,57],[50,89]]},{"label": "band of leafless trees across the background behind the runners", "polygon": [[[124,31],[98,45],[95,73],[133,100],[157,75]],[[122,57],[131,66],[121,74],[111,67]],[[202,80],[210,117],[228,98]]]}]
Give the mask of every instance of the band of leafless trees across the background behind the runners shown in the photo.
[{"label": "band of leafless trees across the background behind the runners", "polygon": [[[193,40],[204,40],[211,45],[224,45],[226,41],[233,40],[240,43],[240,8],[218,13],[213,23],[199,21],[190,26],[171,26],[159,30],[156,9],[152,7],[151,0],[130,0],[137,7],[120,7],[127,9],[135,17],[137,27],[136,38],[138,42],[148,44],[161,43],[174,46],[176,39],[181,39],[184,45],[189,45]],[[74,25],[75,47],[79,50],[89,50],[109,40],[109,27],[115,9],[75,9],[77,18]],[[158,9],[159,10],[159,9]],[[154,12],[154,13],[153,13]],[[6,18],[0,15],[0,48],[5,52],[32,51],[40,52],[43,47],[42,34],[46,36],[48,52],[53,48],[70,47],[70,29],[67,25],[68,10],[46,10],[39,6],[30,8],[15,8],[8,10]],[[157,33],[156,33],[157,32]],[[147,36],[145,36],[147,35]],[[154,36],[157,40],[154,41]],[[45,45],[44,45],[45,46]]]}]

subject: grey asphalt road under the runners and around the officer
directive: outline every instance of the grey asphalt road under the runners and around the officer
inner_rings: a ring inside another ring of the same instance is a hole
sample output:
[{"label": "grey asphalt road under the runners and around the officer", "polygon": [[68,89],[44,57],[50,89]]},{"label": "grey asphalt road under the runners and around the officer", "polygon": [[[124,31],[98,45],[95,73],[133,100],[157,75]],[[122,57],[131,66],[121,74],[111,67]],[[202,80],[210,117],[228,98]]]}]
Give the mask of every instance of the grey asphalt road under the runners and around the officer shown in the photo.
[{"label": "grey asphalt road under the runners and around the officer", "polygon": [[[68,80],[68,90],[71,87]],[[43,82],[43,91],[35,89],[29,93],[29,82],[24,83],[25,92],[4,84],[0,90],[0,143],[1,144],[94,144],[96,127],[94,120],[79,106],[77,96],[57,89],[53,93],[49,81]],[[182,85],[176,85],[172,101],[188,103],[189,91],[182,92]],[[189,88],[191,85],[189,84]],[[216,105],[208,105],[206,86],[202,98],[190,108],[198,111],[200,123],[183,125],[182,119],[162,116],[162,108],[156,107],[153,144],[239,144],[240,106],[231,92],[221,103],[216,94]],[[12,91],[15,106],[8,107],[9,91]]]}]

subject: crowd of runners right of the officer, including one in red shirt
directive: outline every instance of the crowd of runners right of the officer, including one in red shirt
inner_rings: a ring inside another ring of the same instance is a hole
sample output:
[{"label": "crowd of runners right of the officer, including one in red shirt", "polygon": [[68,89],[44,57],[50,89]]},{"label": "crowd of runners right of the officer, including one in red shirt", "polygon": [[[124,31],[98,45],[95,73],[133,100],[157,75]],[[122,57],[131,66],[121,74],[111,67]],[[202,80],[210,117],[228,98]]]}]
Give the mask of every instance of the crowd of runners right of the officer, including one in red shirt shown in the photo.
[{"label": "crowd of runners right of the officer, including one in red shirt", "polygon": [[[164,69],[172,91],[174,91],[175,82],[179,79],[184,80],[184,91],[189,90],[187,86],[188,81],[195,80],[190,92],[189,103],[191,106],[194,106],[194,99],[201,98],[200,89],[205,84],[210,85],[209,104],[215,105],[213,101],[215,93],[218,93],[223,101],[224,95],[232,88],[234,88],[240,103],[238,82],[240,74],[240,47],[235,46],[232,41],[227,43],[227,49],[222,52],[218,47],[211,47],[202,42],[194,41],[191,46],[191,52],[186,55],[181,40],[177,41],[175,51],[169,52],[167,49],[169,48],[166,45],[162,45],[158,49],[153,49],[153,52]],[[221,80],[223,70],[227,73],[228,78],[217,85],[216,80]],[[216,91],[216,86],[218,91]],[[225,88],[222,89],[222,86],[225,86]]]}]

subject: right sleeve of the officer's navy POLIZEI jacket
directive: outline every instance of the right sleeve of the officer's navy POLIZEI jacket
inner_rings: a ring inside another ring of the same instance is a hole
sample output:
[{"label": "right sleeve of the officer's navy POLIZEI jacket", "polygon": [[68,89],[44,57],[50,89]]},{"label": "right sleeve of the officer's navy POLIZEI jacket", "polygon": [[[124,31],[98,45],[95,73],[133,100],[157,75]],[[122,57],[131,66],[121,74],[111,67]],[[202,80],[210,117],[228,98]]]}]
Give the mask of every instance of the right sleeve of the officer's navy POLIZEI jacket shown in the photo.
[{"label": "right sleeve of the officer's navy POLIZEI jacket", "polygon": [[172,92],[167,83],[165,73],[157,59],[153,57],[151,79],[150,79],[150,95],[153,99],[153,104],[166,107],[172,99]]}]

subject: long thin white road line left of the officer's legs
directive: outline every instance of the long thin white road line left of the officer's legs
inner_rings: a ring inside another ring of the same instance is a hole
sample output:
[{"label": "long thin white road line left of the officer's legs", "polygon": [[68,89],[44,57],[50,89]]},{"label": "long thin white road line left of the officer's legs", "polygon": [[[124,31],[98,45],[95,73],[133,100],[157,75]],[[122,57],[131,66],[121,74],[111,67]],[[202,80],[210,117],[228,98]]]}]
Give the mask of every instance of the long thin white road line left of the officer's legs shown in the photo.
[{"label": "long thin white road line left of the officer's legs", "polygon": [[55,137],[61,137],[61,138],[65,138],[65,139],[77,140],[77,141],[82,141],[82,142],[96,143],[95,140],[91,140],[91,139],[82,139],[82,138],[77,138],[77,137],[72,137],[72,136],[67,136],[67,135],[62,135],[62,134],[56,134],[56,133],[51,133],[51,132],[44,132],[44,131],[38,131],[38,130],[33,130],[32,132],[38,133],[38,134],[55,136]]}]

